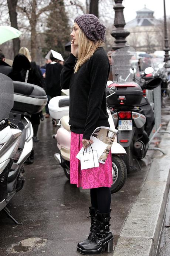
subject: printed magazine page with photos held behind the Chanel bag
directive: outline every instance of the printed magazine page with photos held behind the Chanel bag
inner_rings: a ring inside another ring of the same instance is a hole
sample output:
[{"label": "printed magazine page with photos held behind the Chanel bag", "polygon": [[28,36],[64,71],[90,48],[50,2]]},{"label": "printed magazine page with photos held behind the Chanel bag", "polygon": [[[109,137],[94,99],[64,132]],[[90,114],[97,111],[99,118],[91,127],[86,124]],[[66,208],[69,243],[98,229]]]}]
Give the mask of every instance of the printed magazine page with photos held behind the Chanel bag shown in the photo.
[{"label": "printed magazine page with photos held behind the Chanel bag", "polygon": [[93,131],[90,139],[93,140],[94,138],[96,138],[107,145],[106,149],[103,151],[102,155],[99,157],[99,163],[105,164],[117,132],[118,130],[116,129],[111,129],[110,127],[102,127],[102,126],[97,127]]}]

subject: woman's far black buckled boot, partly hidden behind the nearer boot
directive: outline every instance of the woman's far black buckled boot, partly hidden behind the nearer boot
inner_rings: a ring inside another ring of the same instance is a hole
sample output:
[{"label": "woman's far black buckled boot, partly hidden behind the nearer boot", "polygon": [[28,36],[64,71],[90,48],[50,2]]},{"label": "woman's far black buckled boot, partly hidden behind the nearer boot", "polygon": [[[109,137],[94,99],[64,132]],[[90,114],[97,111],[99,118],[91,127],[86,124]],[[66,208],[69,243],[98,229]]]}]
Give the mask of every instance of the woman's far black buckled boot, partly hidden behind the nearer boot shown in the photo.
[{"label": "woman's far black buckled boot, partly hidden behind the nearer boot", "polygon": [[87,245],[89,243],[89,241],[91,240],[92,236],[94,235],[95,232],[95,228],[96,228],[96,209],[94,207],[89,207],[89,212],[90,212],[90,218],[91,218],[91,227],[90,227],[90,233],[89,236],[86,240],[78,243],[77,245],[77,251],[80,252],[81,247],[83,245]]}]

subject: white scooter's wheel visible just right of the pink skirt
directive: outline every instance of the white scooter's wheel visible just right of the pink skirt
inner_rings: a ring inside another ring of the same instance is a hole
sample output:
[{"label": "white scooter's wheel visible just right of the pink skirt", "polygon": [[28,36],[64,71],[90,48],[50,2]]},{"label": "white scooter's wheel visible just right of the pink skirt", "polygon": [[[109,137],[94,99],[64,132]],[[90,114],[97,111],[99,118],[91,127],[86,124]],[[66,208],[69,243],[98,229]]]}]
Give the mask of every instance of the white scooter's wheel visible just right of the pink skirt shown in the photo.
[{"label": "white scooter's wheel visible just right of the pink skirt", "polygon": [[127,177],[126,165],[119,156],[112,155],[112,175],[113,184],[110,191],[113,194],[118,192],[123,187]]}]

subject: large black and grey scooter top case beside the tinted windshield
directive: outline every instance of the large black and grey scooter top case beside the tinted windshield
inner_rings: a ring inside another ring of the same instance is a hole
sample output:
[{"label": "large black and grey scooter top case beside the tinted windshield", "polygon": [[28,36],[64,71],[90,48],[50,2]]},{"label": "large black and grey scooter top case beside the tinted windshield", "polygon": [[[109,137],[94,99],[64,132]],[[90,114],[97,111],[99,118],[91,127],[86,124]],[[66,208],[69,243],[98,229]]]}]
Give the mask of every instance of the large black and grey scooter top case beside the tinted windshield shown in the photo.
[{"label": "large black and grey scooter top case beside the tinted windshield", "polygon": [[47,95],[43,88],[35,84],[13,81],[15,111],[38,113],[47,104]]}]

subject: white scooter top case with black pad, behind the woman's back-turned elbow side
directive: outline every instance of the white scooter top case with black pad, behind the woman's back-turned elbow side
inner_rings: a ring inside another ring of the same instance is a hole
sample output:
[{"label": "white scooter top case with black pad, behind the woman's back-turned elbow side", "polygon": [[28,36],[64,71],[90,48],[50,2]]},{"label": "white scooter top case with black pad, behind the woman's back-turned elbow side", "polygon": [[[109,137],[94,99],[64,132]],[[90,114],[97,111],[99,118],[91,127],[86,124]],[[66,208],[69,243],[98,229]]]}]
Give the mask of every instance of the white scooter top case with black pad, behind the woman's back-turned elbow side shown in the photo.
[{"label": "white scooter top case with black pad, behind the woman's back-turned elbow side", "polygon": [[49,101],[48,109],[50,116],[54,119],[61,119],[69,113],[69,96],[62,95],[52,98]]}]

